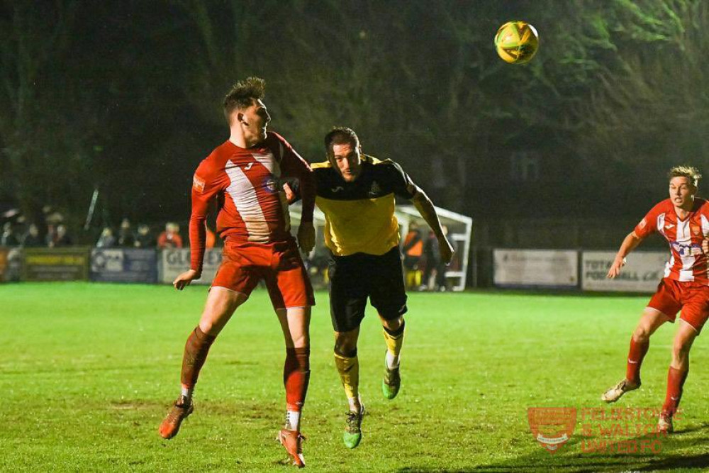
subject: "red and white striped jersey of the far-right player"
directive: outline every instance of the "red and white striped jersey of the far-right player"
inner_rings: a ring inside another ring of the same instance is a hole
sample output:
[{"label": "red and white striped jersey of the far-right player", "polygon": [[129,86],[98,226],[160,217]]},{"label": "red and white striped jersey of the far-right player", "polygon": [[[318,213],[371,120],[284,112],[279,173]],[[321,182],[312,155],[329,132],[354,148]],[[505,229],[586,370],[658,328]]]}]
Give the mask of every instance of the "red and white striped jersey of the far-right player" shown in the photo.
[{"label": "red and white striped jersey of the far-right player", "polygon": [[681,282],[709,285],[707,257],[702,240],[709,235],[709,203],[695,199],[687,218],[680,220],[670,199],[654,206],[635,227],[635,235],[645,238],[661,233],[669,243],[670,258],[664,277]]}]

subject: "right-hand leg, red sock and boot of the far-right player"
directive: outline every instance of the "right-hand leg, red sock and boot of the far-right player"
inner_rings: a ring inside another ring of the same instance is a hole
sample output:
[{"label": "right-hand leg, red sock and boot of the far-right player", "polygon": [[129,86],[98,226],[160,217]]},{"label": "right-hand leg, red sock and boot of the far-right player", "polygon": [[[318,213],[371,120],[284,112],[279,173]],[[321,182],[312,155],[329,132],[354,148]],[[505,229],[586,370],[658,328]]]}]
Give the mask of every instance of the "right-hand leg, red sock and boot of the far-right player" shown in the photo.
[{"label": "right-hand leg, red sock and boot of the far-right player", "polygon": [[684,382],[689,373],[689,350],[697,335],[692,325],[683,320],[679,321],[679,328],[672,344],[672,362],[667,372],[667,392],[657,423],[660,432],[671,433],[674,430],[672,416],[676,413],[679,401],[682,399]]}]

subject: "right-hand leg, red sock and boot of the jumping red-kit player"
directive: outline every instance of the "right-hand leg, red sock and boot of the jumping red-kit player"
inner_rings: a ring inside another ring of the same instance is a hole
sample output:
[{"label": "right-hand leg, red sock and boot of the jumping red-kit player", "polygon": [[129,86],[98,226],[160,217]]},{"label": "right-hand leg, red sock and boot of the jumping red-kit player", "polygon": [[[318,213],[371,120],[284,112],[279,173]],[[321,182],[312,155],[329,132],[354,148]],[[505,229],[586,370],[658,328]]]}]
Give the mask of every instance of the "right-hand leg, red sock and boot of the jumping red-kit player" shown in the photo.
[{"label": "right-hand leg, red sock and boot of the jumping red-kit player", "polygon": [[293,464],[302,468],[301,411],[308,394],[310,380],[310,307],[283,308],[276,311],[286,343],[283,384],[286,388],[286,423],[277,439],[291,456]]}]

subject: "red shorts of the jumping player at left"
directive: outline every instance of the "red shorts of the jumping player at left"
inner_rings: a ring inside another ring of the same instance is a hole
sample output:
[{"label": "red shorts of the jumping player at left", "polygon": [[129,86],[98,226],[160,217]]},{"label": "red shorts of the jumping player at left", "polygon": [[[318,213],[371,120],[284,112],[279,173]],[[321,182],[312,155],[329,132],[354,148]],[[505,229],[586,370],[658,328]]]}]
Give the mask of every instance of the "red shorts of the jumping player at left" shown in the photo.
[{"label": "red shorts of the jumping player at left", "polygon": [[313,286],[293,238],[276,243],[225,241],[212,287],[225,287],[250,296],[262,279],[274,308],[315,305]]}]

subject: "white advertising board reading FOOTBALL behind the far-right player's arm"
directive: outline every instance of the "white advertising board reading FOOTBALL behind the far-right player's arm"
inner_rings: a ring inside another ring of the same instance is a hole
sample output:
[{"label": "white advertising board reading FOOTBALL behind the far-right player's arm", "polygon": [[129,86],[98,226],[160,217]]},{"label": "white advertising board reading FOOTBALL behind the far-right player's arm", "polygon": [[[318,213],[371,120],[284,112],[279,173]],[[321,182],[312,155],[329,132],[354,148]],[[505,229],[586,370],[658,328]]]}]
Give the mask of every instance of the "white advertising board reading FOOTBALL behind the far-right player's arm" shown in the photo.
[{"label": "white advertising board reading FOOTBALL behind the far-right player's arm", "polygon": [[581,289],[584,291],[654,292],[664,273],[667,252],[633,252],[615,279],[606,279],[615,252],[584,251],[581,255]]}]

